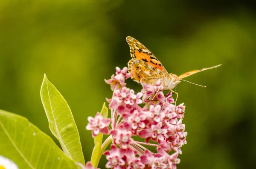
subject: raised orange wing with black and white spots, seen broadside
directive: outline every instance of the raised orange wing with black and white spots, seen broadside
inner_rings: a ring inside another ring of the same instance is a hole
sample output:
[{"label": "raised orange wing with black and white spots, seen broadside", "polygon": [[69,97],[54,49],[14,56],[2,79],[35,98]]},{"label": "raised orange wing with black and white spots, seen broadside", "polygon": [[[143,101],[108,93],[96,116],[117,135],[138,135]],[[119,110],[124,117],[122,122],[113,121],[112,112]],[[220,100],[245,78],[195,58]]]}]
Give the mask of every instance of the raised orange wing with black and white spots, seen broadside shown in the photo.
[{"label": "raised orange wing with black and white spots, seen broadside", "polygon": [[132,59],[128,63],[132,79],[140,83],[140,79],[148,84],[154,84],[158,79],[169,78],[162,63],[143,44],[133,37],[126,37],[130,46]]}]

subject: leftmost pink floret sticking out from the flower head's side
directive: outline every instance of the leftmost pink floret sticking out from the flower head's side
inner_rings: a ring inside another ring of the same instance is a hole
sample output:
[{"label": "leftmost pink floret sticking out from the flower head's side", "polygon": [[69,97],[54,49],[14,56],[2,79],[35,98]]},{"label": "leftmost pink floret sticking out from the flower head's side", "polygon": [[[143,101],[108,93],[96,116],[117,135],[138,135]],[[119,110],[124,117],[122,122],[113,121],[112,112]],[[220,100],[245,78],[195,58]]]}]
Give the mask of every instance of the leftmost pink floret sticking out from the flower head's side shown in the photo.
[{"label": "leftmost pink floret sticking out from the flower head's side", "polygon": [[99,135],[99,132],[105,135],[108,134],[108,126],[110,124],[110,118],[103,119],[103,116],[98,112],[94,118],[89,116],[88,121],[89,123],[87,124],[86,129],[92,130],[93,137],[95,137],[96,135]]}]

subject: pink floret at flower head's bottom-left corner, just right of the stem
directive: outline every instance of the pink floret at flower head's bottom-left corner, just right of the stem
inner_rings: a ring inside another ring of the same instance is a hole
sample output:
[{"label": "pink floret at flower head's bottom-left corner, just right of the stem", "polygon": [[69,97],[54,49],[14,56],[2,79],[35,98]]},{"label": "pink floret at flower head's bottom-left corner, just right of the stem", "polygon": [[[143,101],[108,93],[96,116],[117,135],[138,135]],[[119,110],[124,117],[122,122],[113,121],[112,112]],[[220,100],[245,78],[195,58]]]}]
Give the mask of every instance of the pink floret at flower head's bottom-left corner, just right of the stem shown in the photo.
[{"label": "pink floret at flower head's bottom-left corner, just right of the stem", "polygon": [[122,166],[125,165],[125,160],[122,159],[125,152],[125,149],[118,149],[116,146],[111,145],[111,150],[104,153],[108,160],[106,168],[110,169],[113,167],[114,169],[122,169]]}]

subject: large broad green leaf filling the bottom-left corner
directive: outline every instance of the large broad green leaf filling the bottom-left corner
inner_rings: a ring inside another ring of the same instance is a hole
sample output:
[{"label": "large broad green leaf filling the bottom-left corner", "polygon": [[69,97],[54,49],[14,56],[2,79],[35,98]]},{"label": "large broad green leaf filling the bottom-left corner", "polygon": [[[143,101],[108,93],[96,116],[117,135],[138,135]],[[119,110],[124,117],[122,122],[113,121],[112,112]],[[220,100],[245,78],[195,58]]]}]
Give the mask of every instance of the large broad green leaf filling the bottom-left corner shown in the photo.
[{"label": "large broad green leaf filling the bottom-left corner", "polygon": [[20,169],[77,169],[54,141],[25,117],[0,110],[0,155]]}]

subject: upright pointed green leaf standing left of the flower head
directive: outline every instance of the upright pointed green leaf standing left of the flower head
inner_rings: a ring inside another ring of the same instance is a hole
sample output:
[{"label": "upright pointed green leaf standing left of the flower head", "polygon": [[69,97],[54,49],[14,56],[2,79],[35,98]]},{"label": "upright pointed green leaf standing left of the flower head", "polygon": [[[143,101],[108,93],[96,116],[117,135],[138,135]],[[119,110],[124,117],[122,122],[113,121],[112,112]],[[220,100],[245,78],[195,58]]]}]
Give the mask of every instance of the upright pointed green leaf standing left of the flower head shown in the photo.
[{"label": "upright pointed green leaf standing left of the flower head", "polygon": [[49,128],[59,140],[62,150],[75,162],[84,165],[79,132],[70,107],[55,86],[49,82],[46,75],[44,75],[41,86],[41,100],[48,118]]}]

